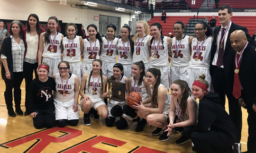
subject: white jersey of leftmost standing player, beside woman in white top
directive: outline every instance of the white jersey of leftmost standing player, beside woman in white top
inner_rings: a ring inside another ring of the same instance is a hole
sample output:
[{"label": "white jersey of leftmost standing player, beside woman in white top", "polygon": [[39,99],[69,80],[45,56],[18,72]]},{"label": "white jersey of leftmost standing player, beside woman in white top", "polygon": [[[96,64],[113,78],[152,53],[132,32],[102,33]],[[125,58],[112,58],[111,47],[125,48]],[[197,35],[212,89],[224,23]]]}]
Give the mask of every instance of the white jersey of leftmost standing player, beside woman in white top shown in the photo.
[{"label": "white jersey of leftmost standing player, beside woman in white top", "polygon": [[[50,36],[52,41],[54,41],[54,35],[50,35]],[[54,41],[53,50],[51,50],[52,49],[51,43],[46,43],[45,38],[43,38],[44,51],[43,51],[42,57],[49,58],[49,59],[60,59],[61,58],[61,49],[60,49],[61,38],[62,38],[62,34],[57,33]]]}]

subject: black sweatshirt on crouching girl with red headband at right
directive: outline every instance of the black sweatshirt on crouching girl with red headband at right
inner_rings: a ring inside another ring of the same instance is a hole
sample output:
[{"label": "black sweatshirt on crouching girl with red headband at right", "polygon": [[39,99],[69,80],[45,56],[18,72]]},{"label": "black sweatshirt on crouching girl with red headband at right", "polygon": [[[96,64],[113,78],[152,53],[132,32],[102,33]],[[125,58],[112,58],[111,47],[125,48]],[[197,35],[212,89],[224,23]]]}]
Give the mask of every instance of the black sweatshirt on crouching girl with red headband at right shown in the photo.
[{"label": "black sweatshirt on crouching girl with red headband at right", "polygon": [[219,104],[219,94],[209,92],[199,101],[198,123],[193,131],[208,129],[225,133],[232,140],[237,139],[237,130],[229,114]]}]

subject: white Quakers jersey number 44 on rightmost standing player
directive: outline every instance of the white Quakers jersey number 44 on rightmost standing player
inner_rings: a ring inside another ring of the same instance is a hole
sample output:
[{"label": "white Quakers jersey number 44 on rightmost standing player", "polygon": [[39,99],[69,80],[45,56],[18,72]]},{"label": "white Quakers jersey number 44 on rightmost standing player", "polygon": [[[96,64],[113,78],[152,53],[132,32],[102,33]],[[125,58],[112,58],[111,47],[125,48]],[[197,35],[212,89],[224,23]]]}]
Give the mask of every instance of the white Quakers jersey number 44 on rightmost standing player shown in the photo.
[{"label": "white Quakers jersey number 44 on rightmost standing player", "polygon": [[[193,38],[192,40],[192,55],[191,60],[189,62],[189,68],[199,68],[199,69],[209,69],[210,68],[210,49],[211,49],[211,38],[207,37],[204,44],[202,42],[198,42],[198,50],[201,51],[196,57],[196,48],[197,48],[197,38]],[[196,61],[196,59],[198,60]]]}]

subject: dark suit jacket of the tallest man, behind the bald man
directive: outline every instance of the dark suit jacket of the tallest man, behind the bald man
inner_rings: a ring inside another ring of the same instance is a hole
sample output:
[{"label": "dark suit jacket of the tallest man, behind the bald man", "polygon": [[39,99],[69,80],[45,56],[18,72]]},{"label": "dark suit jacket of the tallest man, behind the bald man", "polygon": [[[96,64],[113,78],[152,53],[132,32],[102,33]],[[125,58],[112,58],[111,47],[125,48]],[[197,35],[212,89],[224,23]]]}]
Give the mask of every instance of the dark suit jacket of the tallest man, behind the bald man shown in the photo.
[{"label": "dark suit jacket of the tallest man, behind the bald man", "polygon": [[[217,26],[214,29],[214,38],[213,38],[213,42],[212,42],[212,45],[211,45],[211,51],[210,51],[210,75],[211,76],[212,76],[212,64],[211,63],[212,63],[212,60],[213,60],[215,52],[216,52],[217,42],[219,42],[219,40],[216,40],[216,37],[217,37],[217,34],[219,33],[220,28],[221,28],[221,26]],[[232,22],[231,26],[230,26],[230,29],[229,29],[229,34],[228,34],[227,42],[224,45],[224,47],[225,47],[224,56],[223,56],[224,75],[227,75],[227,73],[225,72],[225,70],[226,70],[226,66],[225,65],[229,64],[230,61],[233,61],[230,57],[234,57],[235,54],[236,54],[236,51],[234,51],[232,49],[231,44],[230,44],[230,34],[233,33],[236,30],[243,30],[246,33],[247,41],[250,44],[256,46],[256,42],[248,34],[247,28],[244,27],[244,26],[239,26],[239,25],[234,24]]]}]

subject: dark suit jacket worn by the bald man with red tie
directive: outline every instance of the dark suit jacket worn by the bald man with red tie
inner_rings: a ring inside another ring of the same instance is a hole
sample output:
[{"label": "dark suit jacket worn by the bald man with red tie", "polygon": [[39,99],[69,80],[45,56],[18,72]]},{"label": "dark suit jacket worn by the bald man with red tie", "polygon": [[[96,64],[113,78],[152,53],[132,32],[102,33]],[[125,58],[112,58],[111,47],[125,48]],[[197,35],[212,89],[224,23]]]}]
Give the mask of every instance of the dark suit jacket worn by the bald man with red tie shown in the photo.
[{"label": "dark suit jacket worn by the bald man with red tie", "polygon": [[[246,104],[248,107],[252,107],[253,103],[256,104],[256,51],[255,46],[248,44],[247,48],[244,50],[241,64],[239,68],[239,80],[242,85],[243,91],[246,96]],[[226,78],[229,78],[230,81],[227,79],[227,88],[229,94],[232,94],[233,91],[233,85],[234,85],[234,73],[235,73],[235,56],[232,57],[233,62],[229,62],[227,64],[227,74],[228,76]],[[225,68],[225,67],[224,67]],[[244,99],[244,100],[245,100]]]}]

